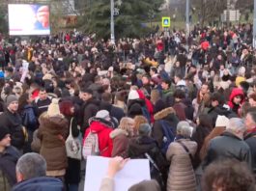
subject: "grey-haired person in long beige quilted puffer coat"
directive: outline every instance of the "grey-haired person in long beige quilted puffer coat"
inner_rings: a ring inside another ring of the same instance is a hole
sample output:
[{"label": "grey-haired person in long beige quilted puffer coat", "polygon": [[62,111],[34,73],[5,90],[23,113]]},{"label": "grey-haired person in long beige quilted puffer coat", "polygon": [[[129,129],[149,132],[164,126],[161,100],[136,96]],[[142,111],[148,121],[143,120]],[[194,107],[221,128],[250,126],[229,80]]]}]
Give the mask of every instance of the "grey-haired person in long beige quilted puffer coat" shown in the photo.
[{"label": "grey-haired person in long beige quilted puffer coat", "polygon": [[166,153],[167,160],[171,162],[167,191],[196,190],[192,160],[197,144],[189,140],[190,136],[191,127],[189,124],[186,122],[178,123],[176,139],[170,144]]}]

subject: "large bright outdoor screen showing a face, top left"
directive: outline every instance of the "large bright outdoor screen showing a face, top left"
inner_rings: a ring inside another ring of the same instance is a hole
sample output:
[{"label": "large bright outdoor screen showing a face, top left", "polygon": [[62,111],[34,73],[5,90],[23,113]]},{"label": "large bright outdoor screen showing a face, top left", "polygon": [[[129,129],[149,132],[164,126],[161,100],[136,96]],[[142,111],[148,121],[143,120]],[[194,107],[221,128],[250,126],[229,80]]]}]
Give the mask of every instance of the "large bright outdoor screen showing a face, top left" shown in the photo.
[{"label": "large bright outdoor screen showing a face, top left", "polygon": [[9,34],[50,35],[50,9],[48,5],[9,4]]}]

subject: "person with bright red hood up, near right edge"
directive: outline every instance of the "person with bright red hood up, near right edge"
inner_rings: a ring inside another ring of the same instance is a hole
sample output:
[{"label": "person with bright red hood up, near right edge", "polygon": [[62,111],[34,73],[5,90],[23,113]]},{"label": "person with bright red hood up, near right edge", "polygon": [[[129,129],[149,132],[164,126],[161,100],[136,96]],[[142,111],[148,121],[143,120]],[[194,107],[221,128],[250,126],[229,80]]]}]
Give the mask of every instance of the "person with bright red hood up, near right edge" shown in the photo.
[{"label": "person with bright red hood up, near right edge", "polygon": [[239,110],[242,106],[243,101],[244,101],[244,94],[242,92],[242,89],[234,88],[232,90],[231,95],[229,96],[229,101],[228,101],[228,105],[230,109],[236,114],[239,114]]}]

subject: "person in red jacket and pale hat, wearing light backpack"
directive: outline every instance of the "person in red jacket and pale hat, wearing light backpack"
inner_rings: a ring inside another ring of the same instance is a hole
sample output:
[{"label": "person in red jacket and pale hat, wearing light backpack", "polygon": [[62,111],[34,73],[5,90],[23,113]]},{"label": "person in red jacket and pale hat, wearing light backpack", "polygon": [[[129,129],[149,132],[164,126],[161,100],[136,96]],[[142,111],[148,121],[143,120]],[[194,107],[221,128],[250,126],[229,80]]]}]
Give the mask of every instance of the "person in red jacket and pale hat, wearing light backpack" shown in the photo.
[{"label": "person in red jacket and pale hat, wearing light backpack", "polygon": [[90,126],[86,129],[83,143],[90,131],[97,133],[99,139],[100,156],[111,157],[113,142],[109,134],[113,131],[109,112],[100,110],[95,117],[89,120]]}]

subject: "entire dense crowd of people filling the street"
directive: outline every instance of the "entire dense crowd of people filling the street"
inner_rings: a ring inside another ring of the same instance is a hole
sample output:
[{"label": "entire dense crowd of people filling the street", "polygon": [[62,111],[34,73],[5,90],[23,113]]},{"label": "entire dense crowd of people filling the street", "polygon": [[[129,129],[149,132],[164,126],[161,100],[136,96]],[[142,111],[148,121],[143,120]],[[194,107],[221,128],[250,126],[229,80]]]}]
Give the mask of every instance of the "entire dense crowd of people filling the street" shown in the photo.
[{"label": "entire dense crowd of people filling the street", "polygon": [[112,157],[102,191],[127,158],[148,159],[152,177],[129,190],[255,190],[251,41],[250,24],[187,41],[1,37],[0,190],[77,191],[88,155]]}]

